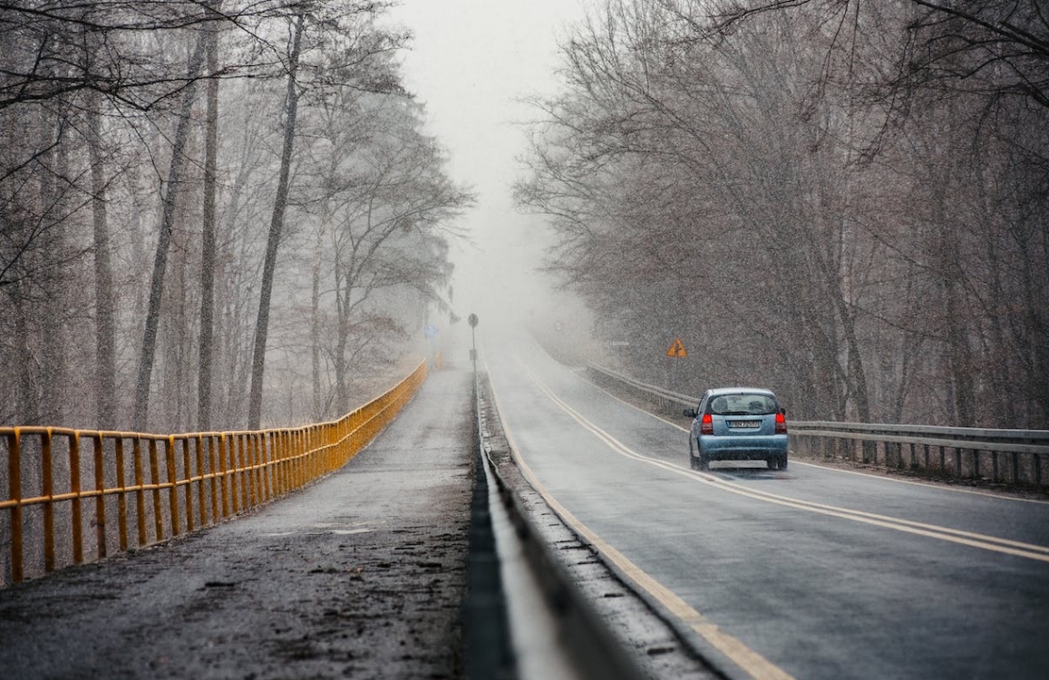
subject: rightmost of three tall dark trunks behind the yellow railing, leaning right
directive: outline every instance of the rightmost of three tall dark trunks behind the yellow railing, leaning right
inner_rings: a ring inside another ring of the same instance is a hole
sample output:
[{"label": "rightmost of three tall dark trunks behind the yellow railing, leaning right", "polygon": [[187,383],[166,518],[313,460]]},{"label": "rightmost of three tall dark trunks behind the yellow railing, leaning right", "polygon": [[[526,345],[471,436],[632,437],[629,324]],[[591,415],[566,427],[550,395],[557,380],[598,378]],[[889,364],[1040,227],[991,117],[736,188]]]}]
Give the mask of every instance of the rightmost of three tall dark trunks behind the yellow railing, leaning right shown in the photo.
[{"label": "rightmost of three tall dark trunks behind the yellow railing, leaning right", "polygon": [[302,27],[305,16],[299,15],[292,39],[292,52],[287,65],[287,119],[284,122],[284,147],[280,154],[280,176],[277,180],[277,197],[273,205],[273,219],[270,221],[270,237],[266,240],[265,261],[262,264],[262,290],[259,294],[259,314],[255,324],[255,352],[252,355],[252,387],[248,403],[248,427],[258,429],[262,421],[262,374],[265,369],[265,342],[270,330],[270,299],[273,296],[273,275],[277,268],[277,249],[280,232],[284,226],[284,209],[287,207],[287,185],[292,166],[292,148],[295,142],[295,118],[299,106],[299,91],[295,82],[299,68],[299,47],[302,44]]}]

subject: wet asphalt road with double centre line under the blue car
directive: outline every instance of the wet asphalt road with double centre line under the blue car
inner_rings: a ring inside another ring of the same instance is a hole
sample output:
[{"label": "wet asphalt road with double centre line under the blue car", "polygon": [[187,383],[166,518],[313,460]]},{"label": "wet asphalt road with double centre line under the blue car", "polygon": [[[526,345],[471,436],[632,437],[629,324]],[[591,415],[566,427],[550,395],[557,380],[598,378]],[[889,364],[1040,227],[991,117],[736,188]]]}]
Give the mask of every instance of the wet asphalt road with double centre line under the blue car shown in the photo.
[{"label": "wet asphalt road with double centre line under the blue car", "polygon": [[684,431],[520,335],[484,349],[540,482],[763,677],[1049,677],[1049,504],[798,461],[693,472]]}]

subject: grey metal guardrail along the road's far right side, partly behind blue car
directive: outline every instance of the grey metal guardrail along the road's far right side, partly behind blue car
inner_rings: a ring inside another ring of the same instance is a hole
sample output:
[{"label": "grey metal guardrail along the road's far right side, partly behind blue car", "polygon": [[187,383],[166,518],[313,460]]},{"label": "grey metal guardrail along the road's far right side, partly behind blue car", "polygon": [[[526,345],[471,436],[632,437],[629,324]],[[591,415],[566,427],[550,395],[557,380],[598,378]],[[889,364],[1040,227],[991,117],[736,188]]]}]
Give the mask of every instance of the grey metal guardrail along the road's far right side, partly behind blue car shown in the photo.
[{"label": "grey metal guardrail along the road's far right side, partly behind blue car", "polygon": [[[595,382],[625,390],[659,412],[680,418],[682,408],[700,401],[596,364],[586,368]],[[792,450],[812,458],[1015,486],[1049,484],[1044,460],[1049,456],[1049,430],[830,421],[791,421],[789,427]]]}]

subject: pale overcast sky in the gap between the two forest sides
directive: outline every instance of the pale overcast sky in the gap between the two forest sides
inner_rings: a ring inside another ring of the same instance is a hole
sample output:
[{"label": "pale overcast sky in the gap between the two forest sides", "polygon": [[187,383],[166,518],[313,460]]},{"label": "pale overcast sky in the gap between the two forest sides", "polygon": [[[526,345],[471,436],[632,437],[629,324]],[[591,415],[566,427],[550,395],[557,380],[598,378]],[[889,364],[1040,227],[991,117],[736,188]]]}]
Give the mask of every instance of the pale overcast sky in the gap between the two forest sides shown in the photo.
[{"label": "pale overcast sky in the gap between the two forest sides", "polygon": [[[475,242],[456,254],[455,311],[484,306],[481,291],[527,295],[508,276],[530,269],[541,218],[515,212],[515,157],[535,116],[519,103],[553,93],[557,40],[583,15],[584,0],[402,0],[391,20],[414,35],[405,55],[409,89],[426,104],[429,130],[451,155],[449,172],[471,185],[477,206],[463,219]],[[497,281],[496,281],[497,279]]]}]

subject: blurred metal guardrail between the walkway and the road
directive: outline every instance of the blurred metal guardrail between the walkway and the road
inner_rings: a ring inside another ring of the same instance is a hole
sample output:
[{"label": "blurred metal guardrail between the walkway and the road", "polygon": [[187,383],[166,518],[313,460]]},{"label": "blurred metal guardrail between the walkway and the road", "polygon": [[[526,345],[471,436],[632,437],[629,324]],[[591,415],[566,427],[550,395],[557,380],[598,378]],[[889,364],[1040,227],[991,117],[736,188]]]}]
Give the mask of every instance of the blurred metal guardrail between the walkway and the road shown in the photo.
[{"label": "blurred metal guardrail between the walkway and the road", "polygon": [[479,513],[488,526],[471,530],[472,538],[479,535],[480,540],[471,541],[470,595],[464,604],[467,677],[646,677],[554,556],[491,460],[476,374],[474,403],[476,479],[489,503],[488,512]]}]

